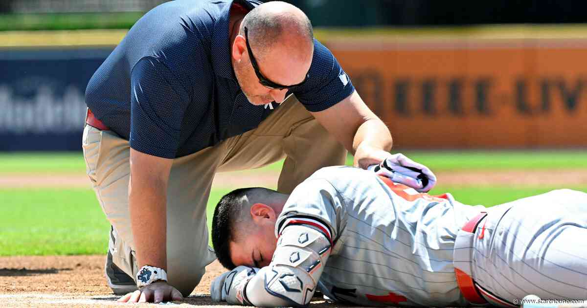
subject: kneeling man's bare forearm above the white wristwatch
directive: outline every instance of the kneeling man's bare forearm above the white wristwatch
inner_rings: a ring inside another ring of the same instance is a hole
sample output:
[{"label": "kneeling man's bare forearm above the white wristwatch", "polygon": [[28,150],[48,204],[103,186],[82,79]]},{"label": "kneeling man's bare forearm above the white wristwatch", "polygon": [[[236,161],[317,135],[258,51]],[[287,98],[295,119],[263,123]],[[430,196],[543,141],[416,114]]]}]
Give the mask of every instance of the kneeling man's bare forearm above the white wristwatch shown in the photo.
[{"label": "kneeling man's bare forearm above the white wristwatch", "polygon": [[132,181],[130,224],[139,268],[167,269],[167,187],[164,181]]}]

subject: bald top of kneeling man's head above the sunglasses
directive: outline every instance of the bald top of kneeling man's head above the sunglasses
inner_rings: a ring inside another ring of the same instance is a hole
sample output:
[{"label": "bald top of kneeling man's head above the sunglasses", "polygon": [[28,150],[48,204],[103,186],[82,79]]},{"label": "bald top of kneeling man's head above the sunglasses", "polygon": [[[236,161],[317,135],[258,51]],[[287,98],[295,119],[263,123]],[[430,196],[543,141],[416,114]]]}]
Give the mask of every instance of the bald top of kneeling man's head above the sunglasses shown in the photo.
[{"label": "bald top of kneeling man's head above the sunglasses", "polygon": [[242,35],[245,26],[255,57],[264,57],[275,46],[289,50],[290,56],[305,57],[313,50],[312,23],[301,9],[286,2],[271,1],[257,6],[243,19]]}]

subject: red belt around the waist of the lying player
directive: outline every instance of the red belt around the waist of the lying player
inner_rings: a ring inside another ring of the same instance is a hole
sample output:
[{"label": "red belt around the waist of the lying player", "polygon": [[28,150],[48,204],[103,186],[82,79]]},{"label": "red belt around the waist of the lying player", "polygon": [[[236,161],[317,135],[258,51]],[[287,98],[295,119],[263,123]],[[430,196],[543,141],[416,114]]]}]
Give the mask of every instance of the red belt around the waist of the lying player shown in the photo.
[{"label": "red belt around the waist of the lying player", "polygon": [[[457,276],[458,289],[463,293],[463,297],[468,302],[473,304],[486,304],[485,300],[479,293],[479,290],[473,282],[471,277],[471,255],[473,253],[473,239],[475,237],[475,230],[477,225],[483,218],[487,216],[487,212],[481,212],[473,219],[467,222],[457,234],[457,240],[454,245],[454,273]],[[483,233],[479,235],[483,238]],[[464,270],[458,269],[457,266],[468,266],[468,273]]]}]

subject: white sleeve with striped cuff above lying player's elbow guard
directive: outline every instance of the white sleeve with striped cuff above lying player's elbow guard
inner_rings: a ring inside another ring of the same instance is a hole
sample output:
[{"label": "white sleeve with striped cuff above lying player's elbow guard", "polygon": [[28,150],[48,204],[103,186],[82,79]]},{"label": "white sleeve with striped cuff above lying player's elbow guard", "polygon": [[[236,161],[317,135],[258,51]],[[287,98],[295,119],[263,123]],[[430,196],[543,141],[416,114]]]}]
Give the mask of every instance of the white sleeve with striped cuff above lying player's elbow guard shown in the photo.
[{"label": "white sleeve with striped cuff above lying player's elbow guard", "polygon": [[284,205],[275,224],[279,237],[288,225],[310,225],[336,242],[344,215],[344,199],[325,178],[308,178],[299,184]]}]

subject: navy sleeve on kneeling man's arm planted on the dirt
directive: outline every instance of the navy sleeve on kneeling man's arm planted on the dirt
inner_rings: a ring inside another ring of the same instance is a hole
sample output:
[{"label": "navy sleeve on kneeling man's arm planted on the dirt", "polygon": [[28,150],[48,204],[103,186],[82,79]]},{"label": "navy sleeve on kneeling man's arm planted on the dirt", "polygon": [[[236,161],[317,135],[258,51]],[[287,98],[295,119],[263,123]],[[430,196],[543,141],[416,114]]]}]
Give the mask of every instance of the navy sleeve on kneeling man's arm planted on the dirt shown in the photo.
[{"label": "navy sleeve on kneeling man's arm planted on the dirt", "polygon": [[131,72],[130,94],[130,147],[175,158],[188,92],[163,62],[144,57]]}]

